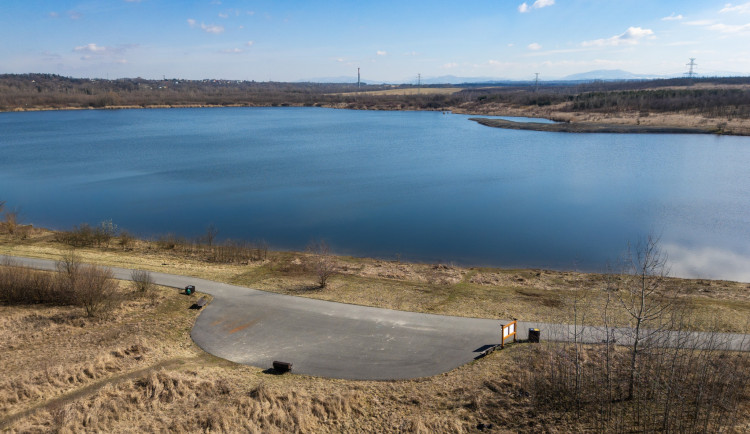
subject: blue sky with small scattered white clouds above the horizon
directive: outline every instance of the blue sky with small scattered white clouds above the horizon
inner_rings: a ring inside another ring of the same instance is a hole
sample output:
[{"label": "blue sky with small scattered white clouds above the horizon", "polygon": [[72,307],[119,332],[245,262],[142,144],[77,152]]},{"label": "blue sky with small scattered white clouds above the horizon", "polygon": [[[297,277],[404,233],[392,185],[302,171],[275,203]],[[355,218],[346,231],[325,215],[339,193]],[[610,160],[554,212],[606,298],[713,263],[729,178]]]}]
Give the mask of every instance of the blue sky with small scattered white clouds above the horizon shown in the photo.
[{"label": "blue sky with small scattered white clouds above the horizon", "polygon": [[0,0],[0,73],[294,81],[750,75],[750,2]]}]

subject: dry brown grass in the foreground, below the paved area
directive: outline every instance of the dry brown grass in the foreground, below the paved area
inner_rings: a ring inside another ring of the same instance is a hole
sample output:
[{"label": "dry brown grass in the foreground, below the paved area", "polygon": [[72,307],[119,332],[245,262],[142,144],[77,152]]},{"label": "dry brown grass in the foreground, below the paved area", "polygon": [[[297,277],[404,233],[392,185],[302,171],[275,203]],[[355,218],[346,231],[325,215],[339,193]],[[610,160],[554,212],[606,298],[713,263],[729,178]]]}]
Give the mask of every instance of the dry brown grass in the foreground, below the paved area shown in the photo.
[{"label": "dry brown grass in the foreground, below the paved area", "polygon": [[[129,285],[120,289],[133,294]],[[511,405],[512,349],[433,378],[344,381],[277,376],[203,353],[192,297],[160,290],[108,320],[67,307],[0,307],[0,429],[9,432],[538,431]]]}]

